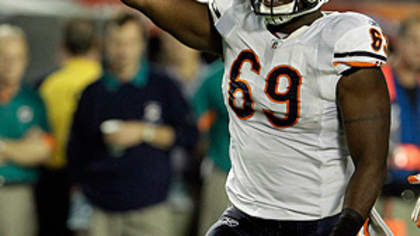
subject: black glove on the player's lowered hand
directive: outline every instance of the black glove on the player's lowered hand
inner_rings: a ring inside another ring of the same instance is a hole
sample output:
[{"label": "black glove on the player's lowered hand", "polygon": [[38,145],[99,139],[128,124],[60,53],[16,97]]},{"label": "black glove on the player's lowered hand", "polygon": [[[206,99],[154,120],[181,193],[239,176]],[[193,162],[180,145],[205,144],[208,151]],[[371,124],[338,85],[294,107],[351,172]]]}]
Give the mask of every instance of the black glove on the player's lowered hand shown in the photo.
[{"label": "black glove on the player's lowered hand", "polygon": [[356,236],[365,219],[351,208],[344,209],[329,236]]}]

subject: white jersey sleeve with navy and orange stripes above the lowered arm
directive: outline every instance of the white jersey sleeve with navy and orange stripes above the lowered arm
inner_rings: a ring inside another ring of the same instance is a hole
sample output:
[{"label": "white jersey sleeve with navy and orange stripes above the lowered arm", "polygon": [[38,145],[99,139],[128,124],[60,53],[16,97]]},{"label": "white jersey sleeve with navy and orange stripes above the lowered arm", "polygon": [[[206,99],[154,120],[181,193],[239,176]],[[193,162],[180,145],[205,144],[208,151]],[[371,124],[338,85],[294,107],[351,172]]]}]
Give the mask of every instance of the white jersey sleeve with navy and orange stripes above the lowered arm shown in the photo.
[{"label": "white jersey sleeve with navy and orange stripes above the lowered arm", "polygon": [[334,45],[333,66],[338,74],[352,67],[379,67],[387,60],[387,40],[373,20],[349,27]]}]

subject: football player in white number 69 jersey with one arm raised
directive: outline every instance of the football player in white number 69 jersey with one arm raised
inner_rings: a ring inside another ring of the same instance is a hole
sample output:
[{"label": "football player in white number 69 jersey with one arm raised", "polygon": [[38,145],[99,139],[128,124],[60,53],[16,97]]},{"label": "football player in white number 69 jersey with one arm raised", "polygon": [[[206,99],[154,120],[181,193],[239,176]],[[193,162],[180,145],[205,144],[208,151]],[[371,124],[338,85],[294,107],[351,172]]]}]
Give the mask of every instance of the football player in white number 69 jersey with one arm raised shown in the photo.
[{"label": "football player in white number 69 jersey with one arm raised", "polygon": [[233,206],[207,235],[392,235],[370,214],[390,126],[374,20],[327,0],[122,1],[223,57]]}]

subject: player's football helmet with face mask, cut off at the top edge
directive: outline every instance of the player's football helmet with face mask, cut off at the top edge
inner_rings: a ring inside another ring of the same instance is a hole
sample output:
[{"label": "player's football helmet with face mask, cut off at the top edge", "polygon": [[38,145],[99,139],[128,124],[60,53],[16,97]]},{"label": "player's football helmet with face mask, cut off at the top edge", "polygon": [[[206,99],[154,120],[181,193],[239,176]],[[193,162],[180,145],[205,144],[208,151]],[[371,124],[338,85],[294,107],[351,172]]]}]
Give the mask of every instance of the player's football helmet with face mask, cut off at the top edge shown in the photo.
[{"label": "player's football helmet with face mask, cut off at the top edge", "polygon": [[251,0],[251,6],[255,14],[265,17],[267,24],[281,25],[318,10],[326,2],[328,0]]}]

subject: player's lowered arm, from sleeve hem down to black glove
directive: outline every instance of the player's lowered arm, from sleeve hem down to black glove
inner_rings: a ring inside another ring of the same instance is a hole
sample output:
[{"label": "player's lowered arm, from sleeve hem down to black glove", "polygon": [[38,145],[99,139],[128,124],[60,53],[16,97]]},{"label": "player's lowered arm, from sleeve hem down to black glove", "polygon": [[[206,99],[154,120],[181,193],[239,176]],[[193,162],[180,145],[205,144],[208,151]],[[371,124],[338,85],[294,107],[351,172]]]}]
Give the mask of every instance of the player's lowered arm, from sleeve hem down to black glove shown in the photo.
[{"label": "player's lowered arm, from sleeve hem down to black glove", "polygon": [[[344,210],[332,235],[356,235],[386,176],[390,102],[382,72],[361,69],[337,85],[338,106],[356,170],[347,186]],[[350,227],[352,225],[352,227]]]}]

